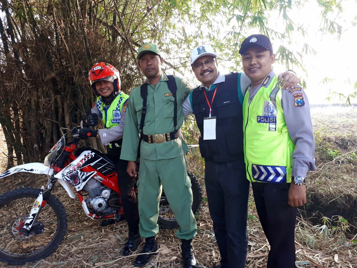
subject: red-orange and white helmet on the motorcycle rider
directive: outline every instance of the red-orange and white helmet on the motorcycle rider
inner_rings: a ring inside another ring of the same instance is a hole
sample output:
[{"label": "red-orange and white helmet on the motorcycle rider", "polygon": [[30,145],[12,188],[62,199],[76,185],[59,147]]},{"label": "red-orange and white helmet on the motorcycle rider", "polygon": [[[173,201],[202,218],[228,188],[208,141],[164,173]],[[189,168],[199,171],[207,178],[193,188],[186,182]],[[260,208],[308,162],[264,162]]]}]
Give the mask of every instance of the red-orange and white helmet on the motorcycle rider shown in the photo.
[{"label": "red-orange and white helmet on the motorcycle rider", "polygon": [[95,81],[106,80],[113,82],[114,95],[120,91],[120,75],[119,71],[111,64],[100,62],[93,65],[88,73],[88,81],[92,86],[96,96],[100,96],[97,89],[95,88]]}]

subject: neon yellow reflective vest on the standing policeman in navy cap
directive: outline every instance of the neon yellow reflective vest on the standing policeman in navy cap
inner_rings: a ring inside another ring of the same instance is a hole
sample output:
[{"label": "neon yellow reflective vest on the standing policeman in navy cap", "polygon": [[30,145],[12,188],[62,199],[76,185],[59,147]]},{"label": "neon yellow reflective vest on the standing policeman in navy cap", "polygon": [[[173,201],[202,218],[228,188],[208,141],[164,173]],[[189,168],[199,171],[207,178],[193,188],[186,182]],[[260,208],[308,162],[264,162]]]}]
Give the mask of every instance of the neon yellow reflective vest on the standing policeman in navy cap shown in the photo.
[{"label": "neon yellow reflective vest on the standing policeman in navy cap", "polygon": [[288,133],[278,77],[243,101],[243,145],[247,179],[251,182],[290,183],[295,145]]}]

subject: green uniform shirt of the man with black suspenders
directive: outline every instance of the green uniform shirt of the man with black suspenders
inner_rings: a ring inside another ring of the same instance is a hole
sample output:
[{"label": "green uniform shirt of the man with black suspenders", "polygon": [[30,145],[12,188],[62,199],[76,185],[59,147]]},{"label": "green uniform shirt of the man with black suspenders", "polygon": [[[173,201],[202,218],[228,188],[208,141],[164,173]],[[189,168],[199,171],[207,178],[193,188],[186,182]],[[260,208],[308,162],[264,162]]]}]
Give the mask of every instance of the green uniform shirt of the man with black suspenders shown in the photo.
[{"label": "green uniform shirt of the man with black suspenders", "polygon": [[[143,133],[145,135],[164,134],[174,131],[174,97],[167,87],[167,76],[161,74],[159,83],[147,86],[147,110]],[[183,123],[182,103],[192,88],[181,78],[175,77],[177,85],[177,126]],[[123,145],[120,158],[135,161],[139,144],[139,129],[142,112],[140,86],[134,88],[129,96],[129,107],[125,121]],[[188,152],[187,144],[182,137],[169,142],[147,143],[142,141],[140,157],[149,160],[161,160],[179,157]]]}]

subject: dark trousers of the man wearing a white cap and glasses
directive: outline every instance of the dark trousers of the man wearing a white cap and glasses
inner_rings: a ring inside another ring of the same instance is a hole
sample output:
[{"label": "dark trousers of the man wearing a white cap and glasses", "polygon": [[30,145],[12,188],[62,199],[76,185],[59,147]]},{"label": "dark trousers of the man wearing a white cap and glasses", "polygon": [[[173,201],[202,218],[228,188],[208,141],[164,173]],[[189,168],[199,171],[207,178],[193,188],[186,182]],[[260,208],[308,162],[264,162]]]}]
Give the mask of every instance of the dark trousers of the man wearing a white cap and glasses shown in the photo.
[{"label": "dark trousers of the man wearing a white cap and glasses", "polygon": [[244,268],[249,195],[244,161],[206,162],[205,184],[222,268]]}]

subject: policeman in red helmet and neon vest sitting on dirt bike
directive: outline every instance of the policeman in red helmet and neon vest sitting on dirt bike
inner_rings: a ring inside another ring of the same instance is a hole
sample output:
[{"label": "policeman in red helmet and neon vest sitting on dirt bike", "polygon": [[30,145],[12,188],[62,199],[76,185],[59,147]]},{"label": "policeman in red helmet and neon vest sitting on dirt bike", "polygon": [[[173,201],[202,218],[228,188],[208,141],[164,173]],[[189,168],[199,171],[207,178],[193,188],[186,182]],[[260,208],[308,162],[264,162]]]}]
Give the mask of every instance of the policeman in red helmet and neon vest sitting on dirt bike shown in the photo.
[{"label": "policeman in red helmet and neon vest sitting on dirt bike", "polygon": [[97,96],[96,102],[83,120],[85,126],[98,124],[98,115],[103,120],[104,129],[83,128],[82,137],[98,137],[107,145],[108,153],[117,158],[116,170],[121,193],[125,219],[129,226],[129,238],[122,254],[129,255],[135,251],[140,242],[139,211],[134,192],[135,179],[127,172],[127,161],[120,159],[124,124],[129,96],[120,90],[119,71],[108,63],[97,63],[89,71],[88,80]]}]

